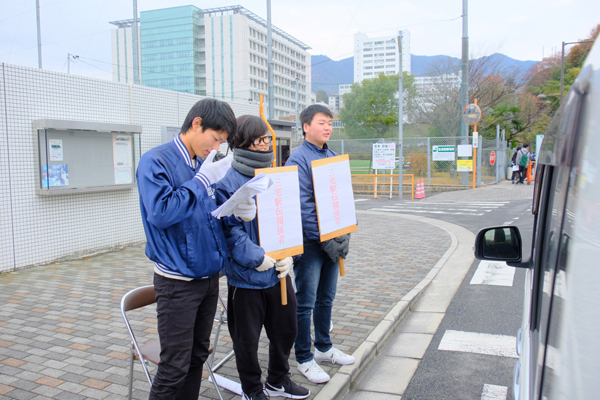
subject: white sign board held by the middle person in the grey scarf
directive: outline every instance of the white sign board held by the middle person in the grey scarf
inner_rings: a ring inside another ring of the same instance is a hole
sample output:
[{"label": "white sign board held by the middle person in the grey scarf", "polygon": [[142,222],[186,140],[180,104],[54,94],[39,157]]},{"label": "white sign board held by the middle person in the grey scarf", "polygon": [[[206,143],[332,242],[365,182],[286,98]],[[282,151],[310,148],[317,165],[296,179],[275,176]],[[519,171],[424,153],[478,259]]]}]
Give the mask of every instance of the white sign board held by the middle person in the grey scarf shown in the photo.
[{"label": "white sign board held by the middle person in the grey scarf", "polygon": [[276,260],[304,252],[298,167],[264,168],[273,184],[256,195],[260,246]]}]

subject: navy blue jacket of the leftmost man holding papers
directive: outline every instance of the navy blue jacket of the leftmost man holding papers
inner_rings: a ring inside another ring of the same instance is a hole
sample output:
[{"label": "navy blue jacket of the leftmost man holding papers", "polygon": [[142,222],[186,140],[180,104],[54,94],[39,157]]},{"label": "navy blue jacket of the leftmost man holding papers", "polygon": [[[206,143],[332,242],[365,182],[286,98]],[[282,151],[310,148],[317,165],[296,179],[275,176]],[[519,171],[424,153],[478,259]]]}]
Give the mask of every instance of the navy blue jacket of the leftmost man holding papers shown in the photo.
[{"label": "navy blue jacket of the leftmost man holding papers", "polygon": [[195,177],[201,163],[192,166],[176,137],[144,153],[138,165],[146,255],[168,275],[207,278],[227,257],[221,222],[210,214],[216,208],[214,186],[206,188]]}]

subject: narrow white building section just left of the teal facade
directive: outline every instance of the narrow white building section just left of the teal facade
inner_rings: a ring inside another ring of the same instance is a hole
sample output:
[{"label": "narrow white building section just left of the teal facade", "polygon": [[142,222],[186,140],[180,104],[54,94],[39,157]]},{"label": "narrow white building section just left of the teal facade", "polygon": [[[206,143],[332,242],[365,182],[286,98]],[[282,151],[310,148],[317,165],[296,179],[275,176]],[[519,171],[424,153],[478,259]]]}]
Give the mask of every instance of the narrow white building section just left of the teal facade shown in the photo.
[{"label": "narrow white building section just left of the teal facade", "polygon": [[[112,21],[110,23],[117,27],[117,29],[112,29],[110,32],[113,81],[133,83],[133,19]],[[138,29],[138,43],[139,40],[140,31]],[[141,60],[139,52],[138,60]],[[138,76],[141,79],[141,64],[138,64]]]}]

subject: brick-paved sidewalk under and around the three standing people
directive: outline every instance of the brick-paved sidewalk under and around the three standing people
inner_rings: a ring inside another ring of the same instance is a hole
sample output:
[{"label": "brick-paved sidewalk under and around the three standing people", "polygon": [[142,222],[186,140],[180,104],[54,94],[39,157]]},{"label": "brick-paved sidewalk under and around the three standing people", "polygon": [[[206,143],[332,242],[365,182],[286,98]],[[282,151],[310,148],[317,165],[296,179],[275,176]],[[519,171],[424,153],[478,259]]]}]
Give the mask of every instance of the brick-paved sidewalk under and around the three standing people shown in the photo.
[{"label": "brick-paved sidewalk under and around the three standing people", "polygon": [[[336,347],[354,354],[380,329],[399,300],[422,285],[452,244],[445,229],[419,218],[357,214],[359,230],[352,235],[346,276],[339,280],[332,331]],[[138,245],[0,274],[0,399],[126,396],[129,339],[119,303],[127,291],[152,284],[152,270],[143,246]],[[224,279],[221,296],[227,297]],[[141,332],[140,342],[156,338],[152,307],[130,315]],[[216,361],[231,350],[225,327],[216,348]],[[264,371],[267,354],[263,336],[259,358]],[[313,395],[328,387],[310,384],[296,365],[292,355],[292,379],[309,387]],[[324,367],[335,378],[339,366]],[[227,361],[218,373],[237,381],[235,360]],[[134,398],[147,398],[148,384],[139,367],[134,389]],[[237,397],[223,394],[226,399]],[[210,383],[203,381],[200,397],[217,398]]]}]

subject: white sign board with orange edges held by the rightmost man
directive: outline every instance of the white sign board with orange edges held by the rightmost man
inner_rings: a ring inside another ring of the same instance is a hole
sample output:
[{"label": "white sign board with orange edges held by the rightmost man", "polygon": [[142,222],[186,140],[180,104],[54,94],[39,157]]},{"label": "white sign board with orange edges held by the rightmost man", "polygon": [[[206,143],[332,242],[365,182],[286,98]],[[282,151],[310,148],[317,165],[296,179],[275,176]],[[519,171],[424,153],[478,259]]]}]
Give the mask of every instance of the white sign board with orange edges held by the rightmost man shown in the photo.
[{"label": "white sign board with orange edges held by the rightmost man", "polygon": [[356,230],[348,154],[311,162],[321,241]]}]

